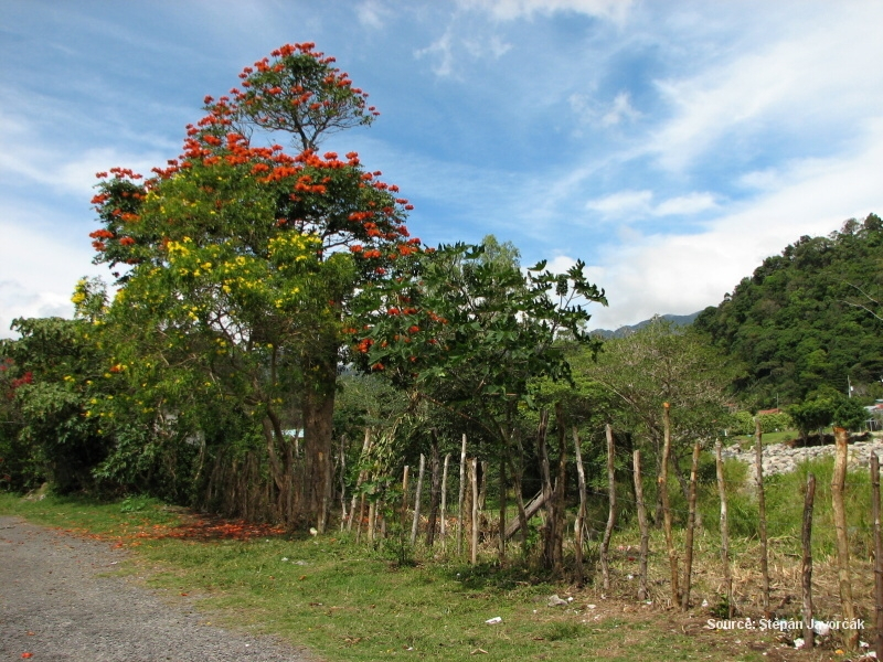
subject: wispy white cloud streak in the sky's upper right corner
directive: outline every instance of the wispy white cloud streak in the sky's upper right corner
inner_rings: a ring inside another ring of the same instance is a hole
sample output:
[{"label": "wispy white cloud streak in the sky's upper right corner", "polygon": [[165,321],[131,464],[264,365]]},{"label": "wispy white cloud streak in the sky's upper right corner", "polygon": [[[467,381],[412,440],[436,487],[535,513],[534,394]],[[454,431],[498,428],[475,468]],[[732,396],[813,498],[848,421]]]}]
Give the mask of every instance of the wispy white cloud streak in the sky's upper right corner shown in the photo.
[{"label": "wispy white cloud streak in the sky's upper right corner", "polygon": [[748,149],[772,129],[778,138],[808,138],[807,131],[830,132],[855,121],[869,102],[879,107],[883,70],[869,63],[883,61],[883,42],[875,38],[883,6],[860,7],[794,12],[773,34],[758,38],[746,30],[748,36],[732,49],[735,56],[716,53],[692,74],[657,81],[672,115],[647,151],[663,168],[681,171],[713,149]]}]

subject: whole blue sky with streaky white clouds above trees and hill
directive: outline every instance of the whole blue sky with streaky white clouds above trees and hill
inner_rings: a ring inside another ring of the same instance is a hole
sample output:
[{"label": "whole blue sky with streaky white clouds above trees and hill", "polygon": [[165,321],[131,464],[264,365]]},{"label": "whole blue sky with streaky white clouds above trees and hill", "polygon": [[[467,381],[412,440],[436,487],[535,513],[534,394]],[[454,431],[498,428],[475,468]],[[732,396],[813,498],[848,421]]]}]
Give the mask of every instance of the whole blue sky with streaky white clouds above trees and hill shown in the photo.
[{"label": "whole blue sky with streaky white clouds above trees and hill", "polygon": [[593,327],[716,305],[883,214],[883,3],[2,0],[0,337],[72,314],[94,174],[178,156],[242,67],[312,41],[382,115],[360,152],[428,244],[513,242],[607,290]]}]

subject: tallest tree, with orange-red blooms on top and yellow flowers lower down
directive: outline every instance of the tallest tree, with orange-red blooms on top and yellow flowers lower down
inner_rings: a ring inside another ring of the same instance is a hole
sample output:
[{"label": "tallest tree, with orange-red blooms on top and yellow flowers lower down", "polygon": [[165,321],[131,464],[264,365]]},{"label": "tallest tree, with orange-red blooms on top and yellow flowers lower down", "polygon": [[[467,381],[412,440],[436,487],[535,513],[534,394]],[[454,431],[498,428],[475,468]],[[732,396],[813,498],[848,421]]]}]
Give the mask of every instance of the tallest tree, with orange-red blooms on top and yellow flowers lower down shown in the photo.
[{"label": "tallest tree, with orange-red blooms on top and yellow flowers lower down", "polygon": [[[317,151],[328,134],[376,116],[333,58],[286,45],[240,77],[228,96],[205,98],[178,159],[147,179],[99,173],[96,261],[118,269],[110,319],[143,330],[151,364],[198,367],[204,388],[254,417],[277,514],[323,530],[343,322],[357,292],[394,276],[419,242],[395,185],[354,152]],[[296,153],[272,142],[279,132]],[[299,467],[280,416],[292,389]]]}]

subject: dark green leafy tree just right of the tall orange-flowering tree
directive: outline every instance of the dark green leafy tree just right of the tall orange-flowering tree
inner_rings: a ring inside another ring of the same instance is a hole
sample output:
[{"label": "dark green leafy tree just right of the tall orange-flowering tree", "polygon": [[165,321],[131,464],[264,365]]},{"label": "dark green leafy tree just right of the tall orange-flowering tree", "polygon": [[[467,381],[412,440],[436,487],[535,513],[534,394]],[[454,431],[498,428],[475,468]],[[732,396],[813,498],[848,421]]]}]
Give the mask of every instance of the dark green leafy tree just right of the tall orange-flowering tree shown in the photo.
[{"label": "dark green leafy tree just right of the tall orange-flowering tree", "polygon": [[[357,352],[363,365],[480,428],[501,462],[501,498],[504,461],[520,499],[519,410],[534,406],[540,378],[570,378],[563,337],[597,345],[576,301],[606,299],[586,280],[583,263],[561,275],[544,271],[544,263],[522,271],[517,254],[491,247],[488,254],[483,246],[444,246],[409,260],[385,287],[369,288],[364,309],[383,312],[369,314]],[[519,511],[523,517],[521,503]],[[546,562],[560,565],[560,552]]]}]

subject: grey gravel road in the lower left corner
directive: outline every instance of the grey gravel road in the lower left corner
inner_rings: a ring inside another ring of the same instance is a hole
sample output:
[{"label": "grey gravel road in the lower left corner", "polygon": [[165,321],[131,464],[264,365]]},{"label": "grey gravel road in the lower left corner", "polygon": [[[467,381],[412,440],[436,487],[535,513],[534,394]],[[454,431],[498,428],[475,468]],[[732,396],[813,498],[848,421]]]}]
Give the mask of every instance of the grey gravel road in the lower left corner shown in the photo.
[{"label": "grey gravel road in the lower left corner", "polygon": [[[307,662],[268,638],[206,624],[131,577],[108,543],[0,516],[0,660]],[[28,655],[26,653],[31,653]]]}]

